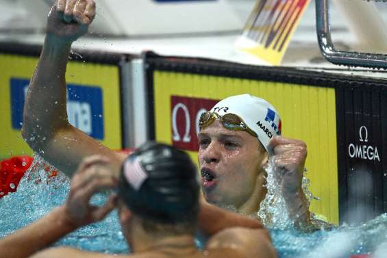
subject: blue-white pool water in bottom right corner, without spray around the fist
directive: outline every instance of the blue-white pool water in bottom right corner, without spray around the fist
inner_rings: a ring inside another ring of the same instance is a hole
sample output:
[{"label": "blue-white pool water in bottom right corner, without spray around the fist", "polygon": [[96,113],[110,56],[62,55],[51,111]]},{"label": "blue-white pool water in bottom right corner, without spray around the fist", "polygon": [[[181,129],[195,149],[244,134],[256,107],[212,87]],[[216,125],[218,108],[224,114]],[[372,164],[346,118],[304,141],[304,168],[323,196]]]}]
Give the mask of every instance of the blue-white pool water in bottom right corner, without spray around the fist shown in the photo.
[{"label": "blue-white pool water in bottom right corner, without spray around the fist", "polygon": [[372,258],[386,257],[387,214],[361,225],[342,225],[330,231],[300,233],[271,229],[270,232],[279,258],[349,258],[370,253]]}]

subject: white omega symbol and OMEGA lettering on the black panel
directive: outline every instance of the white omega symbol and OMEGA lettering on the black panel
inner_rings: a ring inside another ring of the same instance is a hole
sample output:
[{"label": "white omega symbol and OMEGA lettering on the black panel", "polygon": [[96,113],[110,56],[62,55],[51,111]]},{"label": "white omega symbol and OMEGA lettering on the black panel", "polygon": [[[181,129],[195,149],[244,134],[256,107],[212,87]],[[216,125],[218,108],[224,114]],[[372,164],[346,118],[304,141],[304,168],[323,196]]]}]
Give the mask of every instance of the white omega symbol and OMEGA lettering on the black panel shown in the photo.
[{"label": "white omega symbol and OMEGA lettering on the black panel", "polygon": [[369,146],[365,144],[369,141],[369,131],[364,125],[362,125],[359,129],[359,141],[363,144],[349,144],[349,157],[355,159],[368,159],[373,161],[377,160],[380,162],[377,146]]}]

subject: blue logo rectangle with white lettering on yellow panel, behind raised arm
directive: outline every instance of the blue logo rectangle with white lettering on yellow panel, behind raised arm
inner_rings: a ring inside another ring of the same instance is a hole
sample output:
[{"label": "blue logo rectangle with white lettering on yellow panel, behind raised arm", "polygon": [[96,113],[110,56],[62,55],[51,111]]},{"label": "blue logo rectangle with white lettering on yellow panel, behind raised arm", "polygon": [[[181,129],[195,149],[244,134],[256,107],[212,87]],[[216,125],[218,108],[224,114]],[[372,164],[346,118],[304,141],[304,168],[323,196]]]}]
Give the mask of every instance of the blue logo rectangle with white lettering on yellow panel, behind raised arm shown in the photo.
[{"label": "blue logo rectangle with white lettering on yellow panel, behind raised arm", "polygon": [[[10,79],[12,127],[17,130],[20,130],[23,125],[23,108],[28,85],[28,79]],[[71,125],[84,131],[92,138],[103,140],[101,88],[67,84],[66,105],[68,122]]]}]

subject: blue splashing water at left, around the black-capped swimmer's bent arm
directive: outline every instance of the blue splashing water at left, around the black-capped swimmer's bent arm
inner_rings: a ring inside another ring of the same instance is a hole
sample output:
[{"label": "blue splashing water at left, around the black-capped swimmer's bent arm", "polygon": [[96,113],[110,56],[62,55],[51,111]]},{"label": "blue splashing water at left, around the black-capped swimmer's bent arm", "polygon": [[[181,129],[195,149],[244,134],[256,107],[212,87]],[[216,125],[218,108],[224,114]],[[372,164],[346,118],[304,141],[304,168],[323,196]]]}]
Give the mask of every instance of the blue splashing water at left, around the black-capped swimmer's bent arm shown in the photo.
[{"label": "blue splashing water at left, around the black-capped swimmer's bent arm", "polygon": [[[70,181],[62,172],[53,177],[50,171],[53,168],[48,167],[44,159],[34,155],[34,162],[21,179],[18,190],[0,199],[0,237],[25,227],[64,203],[70,190]],[[95,194],[91,203],[103,205],[107,200],[107,194]],[[99,223],[66,235],[55,244],[61,245],[103,253],[129,251],[116,211]]]}]

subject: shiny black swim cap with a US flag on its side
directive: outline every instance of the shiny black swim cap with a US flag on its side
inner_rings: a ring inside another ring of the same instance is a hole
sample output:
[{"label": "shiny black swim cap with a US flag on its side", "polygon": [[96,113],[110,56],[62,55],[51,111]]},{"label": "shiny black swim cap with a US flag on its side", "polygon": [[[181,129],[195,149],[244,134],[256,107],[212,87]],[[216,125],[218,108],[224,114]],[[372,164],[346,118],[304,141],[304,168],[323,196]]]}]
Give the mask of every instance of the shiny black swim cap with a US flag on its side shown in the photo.
[{"label": "shiny black swim cap with a US flag on its side", "polygon": [[147,142],[125,159],[119,196],[133,214],[156,224],[195,224],[197,168],[184,151]]}]

